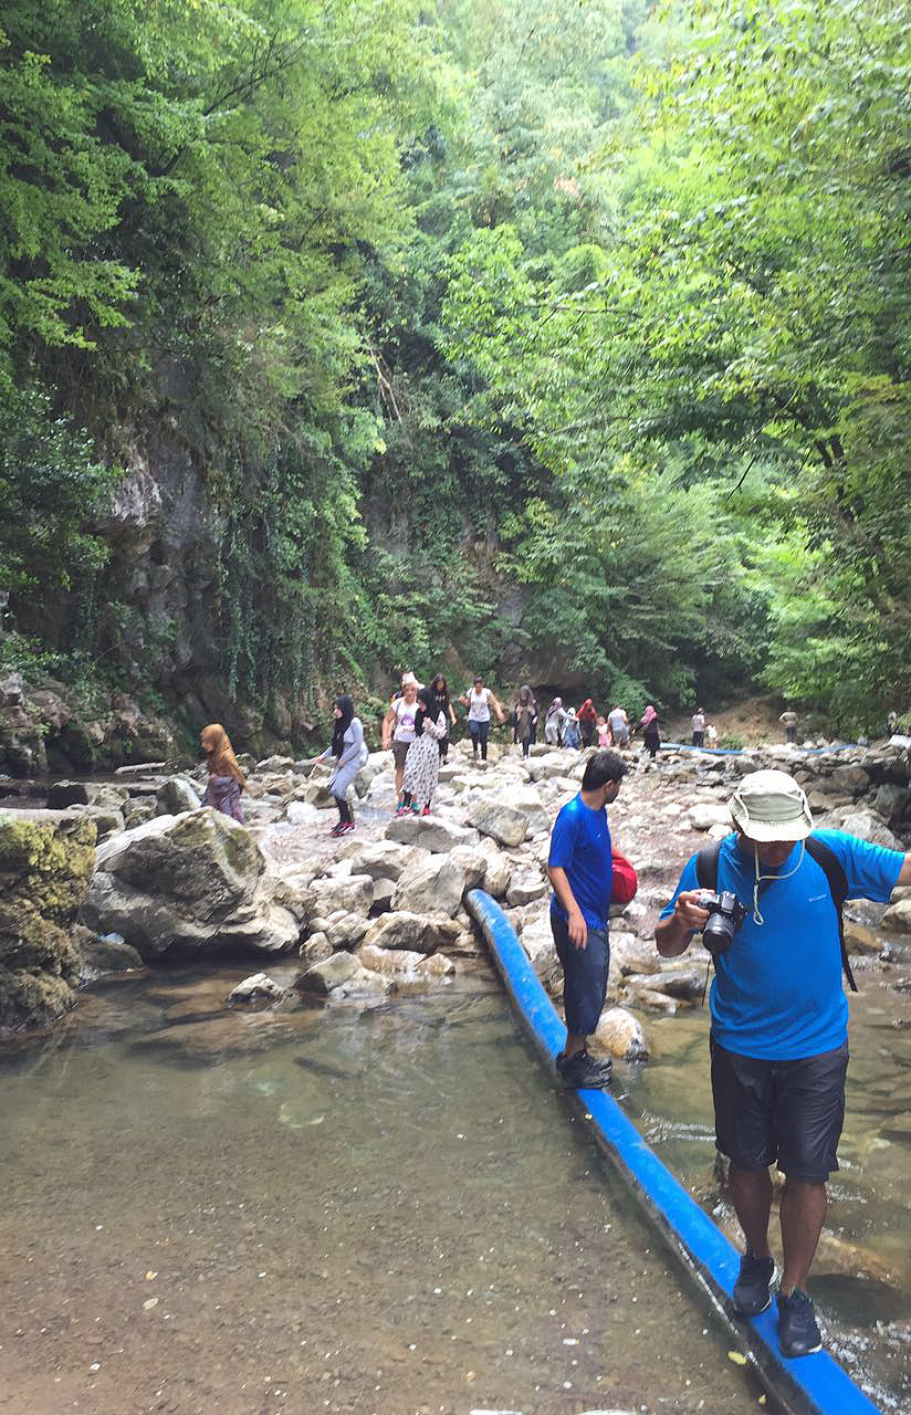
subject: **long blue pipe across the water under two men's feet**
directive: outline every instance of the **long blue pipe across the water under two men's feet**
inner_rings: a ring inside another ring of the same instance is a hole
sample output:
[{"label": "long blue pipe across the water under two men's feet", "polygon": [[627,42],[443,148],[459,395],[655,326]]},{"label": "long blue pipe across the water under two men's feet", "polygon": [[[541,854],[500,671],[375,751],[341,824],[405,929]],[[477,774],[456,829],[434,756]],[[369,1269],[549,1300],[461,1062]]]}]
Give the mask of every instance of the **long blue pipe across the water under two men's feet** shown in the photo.
[{"label": "long blue pipe across the water under two men's feet", "polygon": [[[480,925],[506,992],[542,1058],[553,1065],[566,1029],[542,988],[515,930],[484,890],[465,899]],[[788,1360],[778,1348],[777,1303],[761,1316],[736,1317],[731,1293],[740,1254],[645,1143],[605,1091],[567,1091],[601,1149],[658,1223],[686,1269],[709,1292],[737,1343],[789,1415],[876,1415],[874,1405],[826,1351]]]}]

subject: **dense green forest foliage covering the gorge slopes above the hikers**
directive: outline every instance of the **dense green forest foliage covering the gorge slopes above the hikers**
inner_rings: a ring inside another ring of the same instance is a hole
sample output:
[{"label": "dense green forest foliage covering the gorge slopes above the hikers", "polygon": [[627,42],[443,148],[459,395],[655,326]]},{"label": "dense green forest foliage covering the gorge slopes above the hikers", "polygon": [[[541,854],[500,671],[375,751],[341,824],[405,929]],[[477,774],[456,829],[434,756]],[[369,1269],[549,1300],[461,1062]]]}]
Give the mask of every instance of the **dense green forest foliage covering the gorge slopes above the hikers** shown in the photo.
[{"label": "dense green forest foliage covering the gorge slopes above the hikers", "polygon": [[[174,703],[443,664],[878,727],[911,700],[910,79],[880,0],[7,0],[0,662]],[[180,681],[109,531],[163,439],[207,528]]]}]

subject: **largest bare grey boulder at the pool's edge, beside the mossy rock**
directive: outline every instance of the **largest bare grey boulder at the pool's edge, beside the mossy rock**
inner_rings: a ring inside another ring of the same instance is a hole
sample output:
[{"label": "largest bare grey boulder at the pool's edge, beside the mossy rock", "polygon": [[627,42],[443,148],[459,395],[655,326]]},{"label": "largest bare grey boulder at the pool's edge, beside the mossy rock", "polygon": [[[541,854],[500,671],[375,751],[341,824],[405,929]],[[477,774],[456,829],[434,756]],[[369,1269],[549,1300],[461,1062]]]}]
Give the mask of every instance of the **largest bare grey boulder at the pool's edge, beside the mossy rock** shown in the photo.
[{"label": "largest bare grey boulder at the pool's edge, beside the mossy rock", "polygon": [[297,942],[308,904],[304,893],[282,893],[249,831],[201,809],[106,841],[83,918],[96,932],[122,934],[146,959],[171,948],[282,952]]}]

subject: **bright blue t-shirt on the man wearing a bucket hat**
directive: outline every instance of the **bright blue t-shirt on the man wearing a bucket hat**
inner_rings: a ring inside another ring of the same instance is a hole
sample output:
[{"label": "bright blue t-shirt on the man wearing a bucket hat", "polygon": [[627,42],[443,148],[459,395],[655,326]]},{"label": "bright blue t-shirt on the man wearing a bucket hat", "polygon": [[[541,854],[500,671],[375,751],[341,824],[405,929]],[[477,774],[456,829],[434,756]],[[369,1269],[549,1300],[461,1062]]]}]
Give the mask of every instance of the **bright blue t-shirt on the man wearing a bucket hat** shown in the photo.
[{"label": "bright blue t-shirt on the man wearing a bucket hat", "polygon": [[[881,904],[895,887],[904,855],[869,845],[843,831],[813,831],[829,846],[847,879],[849,899]],[[791,870],[799,863],[796,873]],[[847,1040],[847,998],[842,986],[842,949],[832,890],[822,866],[795,845],[785,863],[762,874],[788,879],[762,882],[760,925],[753,918],[755,865],[737,835],[721,841],[717,890],[731,890],[748,908],[731,947],[714,964],[712,1036],[727,1051],[768,1061],[796,1061],[832,1051]],[[673,899],[661,911],[673,913],[678,894],[699,889],[696,856],[680,874]]]}]

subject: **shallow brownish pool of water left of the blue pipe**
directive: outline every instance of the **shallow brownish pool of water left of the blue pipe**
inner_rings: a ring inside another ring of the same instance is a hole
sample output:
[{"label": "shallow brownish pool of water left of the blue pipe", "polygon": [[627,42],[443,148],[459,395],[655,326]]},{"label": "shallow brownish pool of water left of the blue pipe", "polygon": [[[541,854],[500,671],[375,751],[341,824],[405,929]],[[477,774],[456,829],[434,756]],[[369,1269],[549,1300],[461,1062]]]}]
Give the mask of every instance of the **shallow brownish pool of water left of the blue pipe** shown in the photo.
[{"label": "shallow brownish pool of water left of the blue pipe", "polygon": [[225,1013],[240,975],[0,1058],[1,1411],[762,1408],[492,976]]}]

